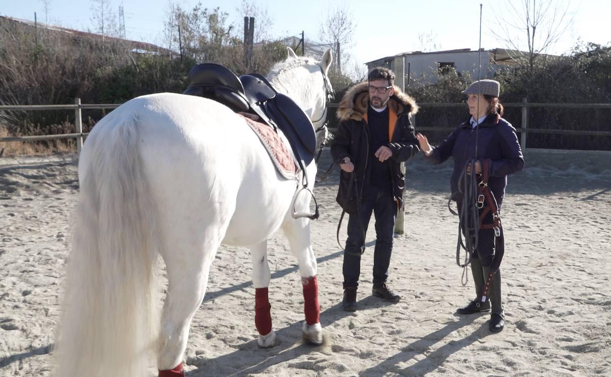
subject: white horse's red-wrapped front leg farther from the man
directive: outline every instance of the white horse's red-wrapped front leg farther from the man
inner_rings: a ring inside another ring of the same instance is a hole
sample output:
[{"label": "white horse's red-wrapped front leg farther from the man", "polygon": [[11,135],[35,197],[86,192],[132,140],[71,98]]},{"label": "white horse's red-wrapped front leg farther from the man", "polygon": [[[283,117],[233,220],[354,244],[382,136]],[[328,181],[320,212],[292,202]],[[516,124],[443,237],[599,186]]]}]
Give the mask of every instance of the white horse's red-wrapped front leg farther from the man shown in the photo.
[{"label": "white horse's red-wrapped front leg farther from the man", "polygon": [[267,241],[251,246],[252,284],[255,287],[255,326],[259,332],[258,345],[268,348],[276,345],[276,332],[271,324],[271,304],[268,287],[271,273],[267,259]]}]

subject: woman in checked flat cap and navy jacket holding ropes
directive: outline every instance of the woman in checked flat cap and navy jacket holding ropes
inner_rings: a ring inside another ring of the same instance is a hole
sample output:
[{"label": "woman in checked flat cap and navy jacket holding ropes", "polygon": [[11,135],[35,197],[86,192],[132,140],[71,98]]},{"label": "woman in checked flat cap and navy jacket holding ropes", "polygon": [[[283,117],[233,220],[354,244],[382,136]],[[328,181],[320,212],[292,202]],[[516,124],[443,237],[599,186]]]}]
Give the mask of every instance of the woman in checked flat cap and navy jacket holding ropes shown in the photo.
[{"label": "woman in checked flat cap and navy jacket holding ropes", "polygon": [[[467,163],[472,159],[475,159],[473,166],[477,174],[481,174],[482,167],[487,167],[488,187],[496,198],[499,210],[505,196],[507,175],[519,172],[524,168],[524,157],[516,130],[502,118],[503,105],[499,101],[499,91],[499,82],[488,79],[476,81],[463,90],[462,93],[469,96],[467,106],[469,106],[471,117],[456,127],[438,147],[431,147],[426,136],[422,134],[416,136],[425,156],[434,163],[441,164],[450,157],[454,160],[450,187],[452,199],[456,200],[459,209],[463,206],[463,197],[458,190],[459,178],[463,174],[470,175],[471,164]],[[475,206],[472,208],[475,211]],[[478,211],[481,213],[483,209]],[[492,215],[488,212],[481,224],[491,222]],[[500,332],[505,326],[505,314],[500,295],[500,269],[496,273],[492,271],[494,276],[489,287],[488,298],[482,301],[486,279],[491,273],[496,237],[494,229],[485,228],[483,226],[478,231],[477,252],[473,252],[470,262],[477,297],[467,306],[459,308],[458,313],[472,314],[488,311],[492,306],[489,328],[492,332]],[[497,232],[497,242],[499,240],[502,242],[502,236],[499,238],[498,235]],[[500,247],[499,244],[497,244],[498,247]]]}]

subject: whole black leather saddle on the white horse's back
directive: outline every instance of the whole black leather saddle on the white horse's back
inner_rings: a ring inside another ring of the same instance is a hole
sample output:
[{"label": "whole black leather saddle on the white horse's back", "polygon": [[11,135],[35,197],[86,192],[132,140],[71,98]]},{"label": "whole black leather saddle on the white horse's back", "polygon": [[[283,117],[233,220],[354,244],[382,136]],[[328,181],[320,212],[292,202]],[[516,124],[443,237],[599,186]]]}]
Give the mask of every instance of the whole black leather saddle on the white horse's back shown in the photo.
[{"label": "whole black leather saddle on the white horse's back", "polygon": [[210,98],[236,112],[257,114],[274,130],[280,128],[302,169],[314,159],[316,133],[309,117],[263,76],[251,73],[238,78],[220,64],[203,63],[191,69],[188,82],[184,94]]}]

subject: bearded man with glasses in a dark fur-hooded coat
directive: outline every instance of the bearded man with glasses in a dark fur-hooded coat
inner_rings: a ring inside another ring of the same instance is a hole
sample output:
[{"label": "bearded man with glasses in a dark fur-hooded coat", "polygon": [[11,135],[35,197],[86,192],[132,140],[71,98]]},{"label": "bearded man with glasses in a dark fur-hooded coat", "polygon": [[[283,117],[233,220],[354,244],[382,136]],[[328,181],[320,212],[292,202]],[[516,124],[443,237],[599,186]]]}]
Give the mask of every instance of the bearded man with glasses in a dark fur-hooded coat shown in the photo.
[{"label": "bearded man with glasses in a dark fur-hooded coat", "polygon": [[403,203],[400,163],[419,151],[409,115],[415,101],[394,86],[395,74],[374,68],[346,92],[337,110],[340,125],[331,155],[342,169],[337,202],[349,214],[343,259],[344,310],[356,310],[360,257],[371,212],[375,216],[373,296],[398,302],[386,284],[397,210]]}]

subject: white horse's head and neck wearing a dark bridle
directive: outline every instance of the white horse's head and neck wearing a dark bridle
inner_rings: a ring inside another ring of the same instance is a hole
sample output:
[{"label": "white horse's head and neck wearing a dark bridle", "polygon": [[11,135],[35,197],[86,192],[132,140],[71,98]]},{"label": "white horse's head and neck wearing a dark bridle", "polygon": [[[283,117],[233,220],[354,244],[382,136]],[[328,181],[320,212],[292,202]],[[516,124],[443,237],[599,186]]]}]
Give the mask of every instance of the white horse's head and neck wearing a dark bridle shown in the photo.
[{"label": "white horse's head and neck wearing a dark bridle", "polygon": [[333,61],[331,48],[325,51],[320,62],[312,57],[297,56],[290,47],[287,51],[287,59],[274,65],[267,79],[277,92],[291,97],[308,115],[316,131],[318,151],[327,137],[327,113],[334,97],[327,76]]}]

